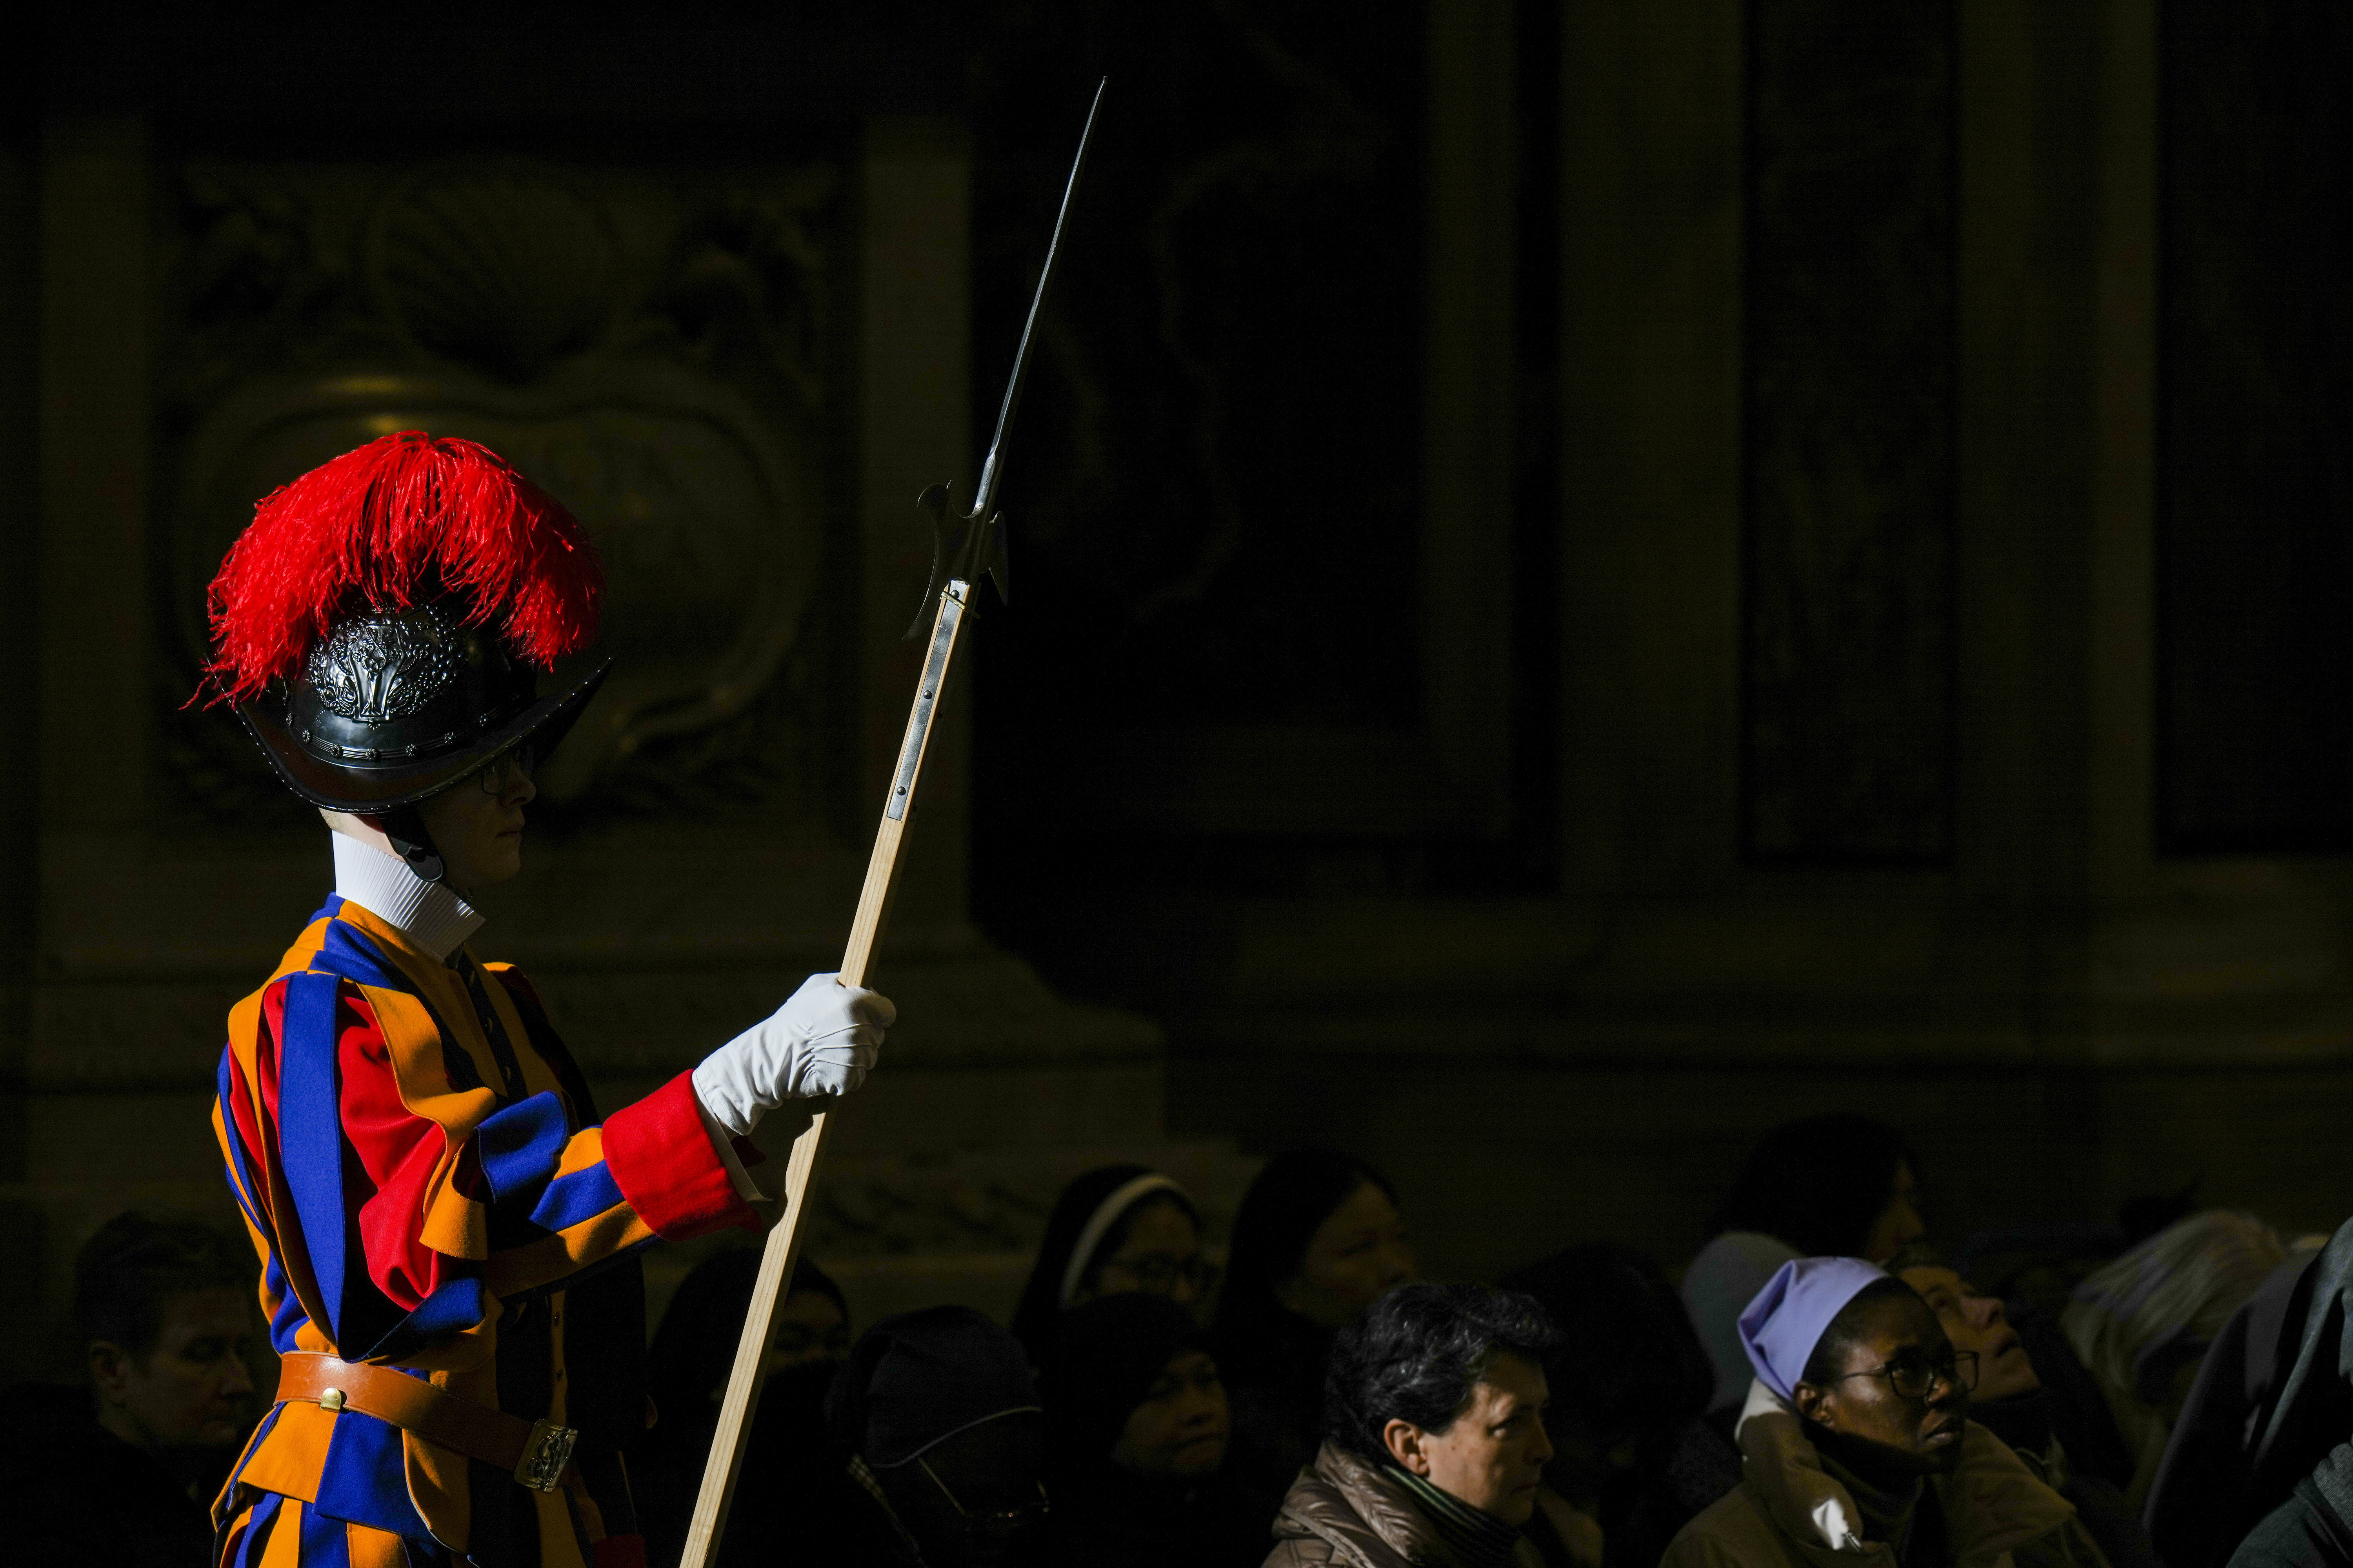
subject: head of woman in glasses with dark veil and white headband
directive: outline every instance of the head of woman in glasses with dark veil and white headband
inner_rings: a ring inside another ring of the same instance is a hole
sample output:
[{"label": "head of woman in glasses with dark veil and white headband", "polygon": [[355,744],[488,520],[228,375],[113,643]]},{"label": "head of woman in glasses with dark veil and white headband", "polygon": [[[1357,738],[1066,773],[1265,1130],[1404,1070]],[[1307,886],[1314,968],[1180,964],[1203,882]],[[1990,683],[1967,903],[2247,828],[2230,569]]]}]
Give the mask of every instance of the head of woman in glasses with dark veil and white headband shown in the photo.
[{"label": "head of woman in glasses with dark veil and white headband", "polygon": [[1054,1199],[1045,1244],[1014,1307],[1014,1338],[1031,1366],[1042,1368],[1073,1307],[1141,1291],[1191,1309],[1207,1288],[1200,1211],[1186,1190],[1148,1166],[1104,1166]]}]

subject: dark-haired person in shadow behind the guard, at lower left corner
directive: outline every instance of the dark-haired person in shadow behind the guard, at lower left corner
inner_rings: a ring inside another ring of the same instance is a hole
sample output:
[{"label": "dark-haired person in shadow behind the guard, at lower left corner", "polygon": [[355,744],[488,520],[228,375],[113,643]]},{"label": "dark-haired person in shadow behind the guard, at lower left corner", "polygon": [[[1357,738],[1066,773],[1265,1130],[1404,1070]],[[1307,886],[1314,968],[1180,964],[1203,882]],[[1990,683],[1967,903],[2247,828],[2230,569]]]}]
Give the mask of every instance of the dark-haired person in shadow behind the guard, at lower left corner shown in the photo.
[{"label": "dark-haired person in shadow behind the guard, at lower left corner", "polygon": [[89,1389],[0,1394],[9,1561],[198,1568],[252,1427],[254,1265],[198,1220],[120,1213],[73,1267]]}]

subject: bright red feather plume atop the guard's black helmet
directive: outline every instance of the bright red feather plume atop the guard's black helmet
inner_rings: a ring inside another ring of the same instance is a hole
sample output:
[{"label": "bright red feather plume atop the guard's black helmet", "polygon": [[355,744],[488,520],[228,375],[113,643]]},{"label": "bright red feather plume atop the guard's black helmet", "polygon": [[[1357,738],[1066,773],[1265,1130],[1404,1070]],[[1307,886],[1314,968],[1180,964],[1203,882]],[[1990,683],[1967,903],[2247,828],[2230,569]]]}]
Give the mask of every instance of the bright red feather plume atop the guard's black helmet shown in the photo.
[{"label": "bright red feather plume atop the guard's black helmet", "polygon": [[320,463],[254,505],[212,578],[214,701],[296,675],[362,604],[440,592],[546,668],[595,637],[605,571],[572,512],[489,447],[402,430]]}]

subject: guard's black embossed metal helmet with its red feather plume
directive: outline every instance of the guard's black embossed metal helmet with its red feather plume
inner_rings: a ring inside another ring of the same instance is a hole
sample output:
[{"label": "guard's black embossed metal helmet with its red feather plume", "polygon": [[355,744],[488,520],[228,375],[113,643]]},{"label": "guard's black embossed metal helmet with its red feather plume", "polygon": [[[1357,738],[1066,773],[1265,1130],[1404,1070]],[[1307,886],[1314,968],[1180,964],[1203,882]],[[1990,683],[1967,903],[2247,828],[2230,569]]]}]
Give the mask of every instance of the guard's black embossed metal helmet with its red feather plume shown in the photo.
[{"label": "guard's black embossed metal helmet with its red feather plume", "polygon": [[546,698],[536,677],[595,637],[602,585],[572,512],[494,451],[386,435],[254,508],[212,578],[212,701],[294,795],[438,879],[416,804],[555,750],[609,665]]}]

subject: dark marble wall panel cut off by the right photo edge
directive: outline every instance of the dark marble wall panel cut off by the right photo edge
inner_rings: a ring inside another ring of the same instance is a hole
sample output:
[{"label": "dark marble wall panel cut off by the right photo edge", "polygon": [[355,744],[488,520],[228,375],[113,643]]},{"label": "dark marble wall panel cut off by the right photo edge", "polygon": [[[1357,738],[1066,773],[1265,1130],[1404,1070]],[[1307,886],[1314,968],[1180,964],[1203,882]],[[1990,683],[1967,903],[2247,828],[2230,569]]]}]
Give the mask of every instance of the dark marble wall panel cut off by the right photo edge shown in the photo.
[{"label": "dark marble wall panel cut off by the right photo edge", "polygon": [[2353,849],[2353,14],[2162,7],[2158,844]]}]

